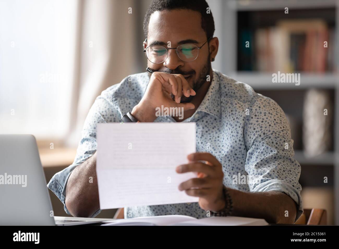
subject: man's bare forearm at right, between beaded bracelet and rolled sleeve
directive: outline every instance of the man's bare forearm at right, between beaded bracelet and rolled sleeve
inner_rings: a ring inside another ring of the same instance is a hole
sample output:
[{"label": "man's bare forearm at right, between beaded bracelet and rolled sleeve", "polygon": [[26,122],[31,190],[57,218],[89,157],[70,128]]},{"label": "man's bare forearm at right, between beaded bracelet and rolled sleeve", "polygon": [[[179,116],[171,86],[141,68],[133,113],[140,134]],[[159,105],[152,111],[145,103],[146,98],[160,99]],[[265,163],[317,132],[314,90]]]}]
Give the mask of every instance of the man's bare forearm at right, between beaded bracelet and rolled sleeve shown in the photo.
[{"label": "man's bare forearm at right, between beaded bracelet and rolled sleeve", "polygon": [[243,192],[231,188],[227,190],[233,201],[232,216],[262,218],[268,223],[280,224],[293,224],[295,221],[296,203],[282,192]]}]

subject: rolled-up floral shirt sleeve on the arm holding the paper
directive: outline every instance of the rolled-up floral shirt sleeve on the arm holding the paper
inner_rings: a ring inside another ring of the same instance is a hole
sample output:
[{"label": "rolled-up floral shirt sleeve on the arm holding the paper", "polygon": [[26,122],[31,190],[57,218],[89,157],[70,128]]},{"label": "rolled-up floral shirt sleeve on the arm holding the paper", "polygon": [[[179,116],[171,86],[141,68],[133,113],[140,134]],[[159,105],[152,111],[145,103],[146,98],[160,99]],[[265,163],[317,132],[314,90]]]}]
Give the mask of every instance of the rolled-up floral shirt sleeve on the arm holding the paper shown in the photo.
[{"label": "rolled-up floral shirt sleeve on the arm holding the paper", "polygon": [[303,213],[299,184],[301,167],[293,158],[293,140],[286,116],[275,101],[263,96],[259,96],[249,110],[244,141],[250,191],[287,194],[297,204],[297,221]]}]

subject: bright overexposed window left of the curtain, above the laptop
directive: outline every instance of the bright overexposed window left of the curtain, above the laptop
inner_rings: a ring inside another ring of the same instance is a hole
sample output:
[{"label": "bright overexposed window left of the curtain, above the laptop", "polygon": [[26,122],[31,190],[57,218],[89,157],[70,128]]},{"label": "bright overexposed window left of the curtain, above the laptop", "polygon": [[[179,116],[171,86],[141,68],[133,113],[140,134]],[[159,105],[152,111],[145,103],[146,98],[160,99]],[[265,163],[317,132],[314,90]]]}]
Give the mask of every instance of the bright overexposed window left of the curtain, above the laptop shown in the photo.
[{"label": "bright overexposed window left of the curtain, above the laptop", "polygon": [[67,132],[78,3],[0,1],[0,133]]}]

